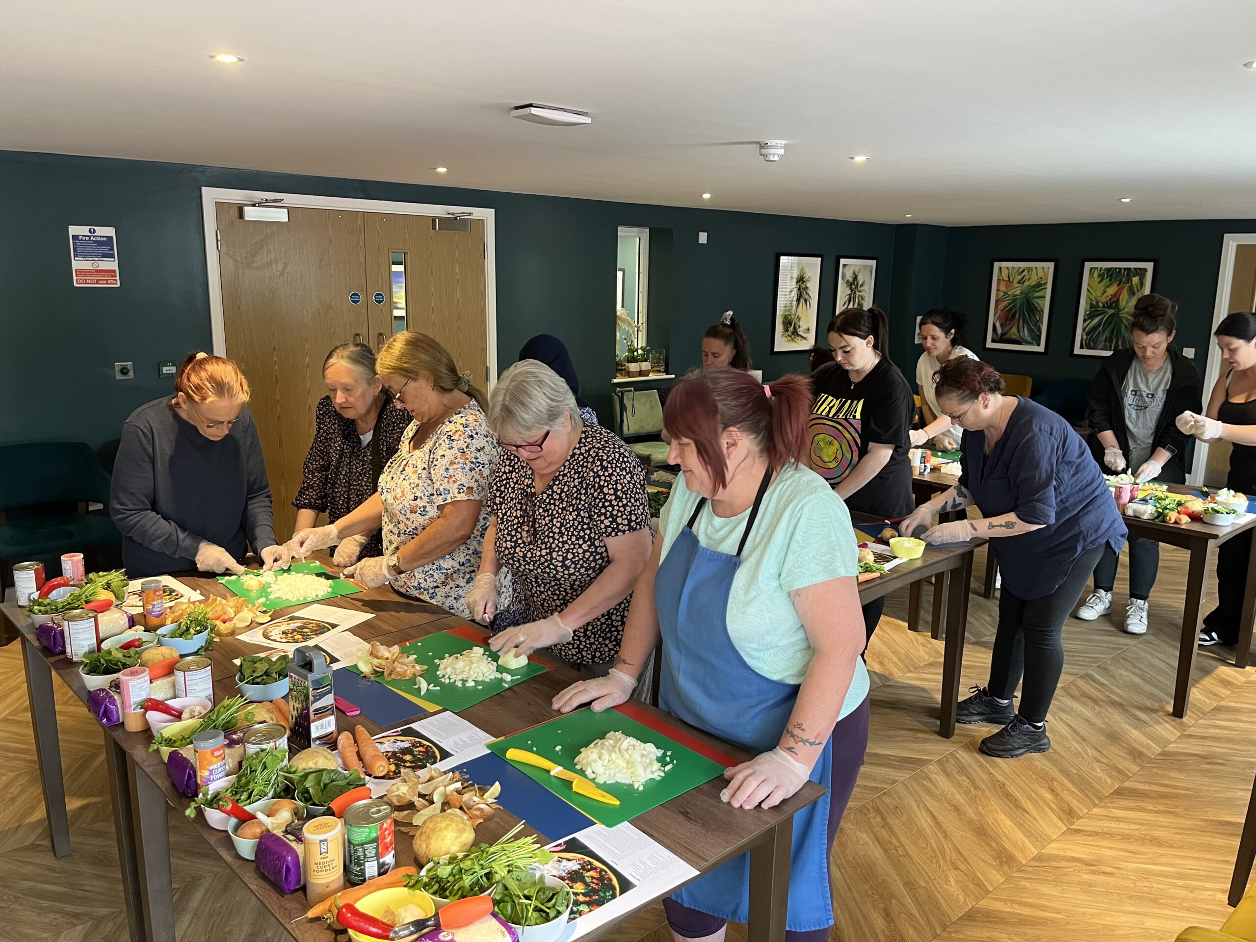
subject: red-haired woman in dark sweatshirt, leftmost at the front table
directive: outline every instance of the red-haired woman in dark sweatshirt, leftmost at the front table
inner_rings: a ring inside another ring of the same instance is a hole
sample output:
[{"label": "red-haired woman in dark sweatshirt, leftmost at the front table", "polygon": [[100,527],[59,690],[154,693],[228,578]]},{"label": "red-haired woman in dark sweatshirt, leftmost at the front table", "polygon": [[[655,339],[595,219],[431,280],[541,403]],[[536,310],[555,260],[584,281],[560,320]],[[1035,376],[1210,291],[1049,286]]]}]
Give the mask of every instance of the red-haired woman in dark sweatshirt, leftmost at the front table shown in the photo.
[{"label": "red-haired woman in dark sweatshirt, leftmost at the front table", "polygon": [[178,367],[173,398],[131,413],[109,512],[132,578],[242,573],[249,546],[266,569],[291,561],[275,541],[266,463],[246,402],[249,381],[235,363],[193,353]]}]

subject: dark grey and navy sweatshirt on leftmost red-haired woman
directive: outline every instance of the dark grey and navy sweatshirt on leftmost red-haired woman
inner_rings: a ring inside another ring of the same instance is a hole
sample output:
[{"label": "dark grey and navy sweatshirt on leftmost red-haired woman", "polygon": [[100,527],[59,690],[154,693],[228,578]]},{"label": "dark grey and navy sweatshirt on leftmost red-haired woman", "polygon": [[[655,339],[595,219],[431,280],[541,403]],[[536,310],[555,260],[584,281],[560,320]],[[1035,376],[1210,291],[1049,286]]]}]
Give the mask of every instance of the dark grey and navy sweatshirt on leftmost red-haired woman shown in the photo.
[{"label": "dark grey and navy sweatshirt on leftmost red-haired woman", "polygon": [[236,560],[276,543],[270,482],[247,407],[222,441],[178,417],[168,398],[141,406],[122,427],[109,512],[133,579],[196,569],[208,540]]}]

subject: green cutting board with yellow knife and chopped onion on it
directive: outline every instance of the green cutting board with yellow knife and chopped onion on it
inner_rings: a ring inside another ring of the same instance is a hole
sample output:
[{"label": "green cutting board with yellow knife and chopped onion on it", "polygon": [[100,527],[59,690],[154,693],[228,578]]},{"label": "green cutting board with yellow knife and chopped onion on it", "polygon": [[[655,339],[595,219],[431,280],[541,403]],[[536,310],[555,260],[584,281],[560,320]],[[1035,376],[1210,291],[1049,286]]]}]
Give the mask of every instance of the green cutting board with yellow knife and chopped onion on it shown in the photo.
[{"label": "green cutting board with yellow knife and chopped onion on it", "polygon": [[[494,740],[487,746],[502,759],[506,757],[506,751],[510,749],[522,749],[535,752],[539,756],[549,759],[551,762],[561,765],[564,769],[570,769],[578,775],[583,775],[575,767],[577,755],[594,740],[600,740],[608,732],[614,731],[638,739],[642,742],[653,742],[664,752],[658,761],[664,767],[674,764],[662,779],[647,781],[641,791],[632,785],[598,784],[599,789],[619,799],[618,805],[608,805],[604,801],[577,795],[571,789],[571,782],[556,779],[535,765],[524,765],[521,762],[511,762],[511,765],[607,828],[614,828],[617,824],[631,821],[637,815],[644,814],[652,808],[658,808],[664,801],[671,801],[677,795],[683,795],[690,789],[696,789],[698,785],[703,785],[723,775],[725,766],[720,762],[715,762],[706,756],[700,756],[693,750],[686,749],[663,734],[615,710],[607,710],[600,713],[594,713],[592,710],[577,710],[574,713],[560,716],[540,726],[534,726],[530,730]],[[672,754],[669,757],[666,755],[668,751]]]}]

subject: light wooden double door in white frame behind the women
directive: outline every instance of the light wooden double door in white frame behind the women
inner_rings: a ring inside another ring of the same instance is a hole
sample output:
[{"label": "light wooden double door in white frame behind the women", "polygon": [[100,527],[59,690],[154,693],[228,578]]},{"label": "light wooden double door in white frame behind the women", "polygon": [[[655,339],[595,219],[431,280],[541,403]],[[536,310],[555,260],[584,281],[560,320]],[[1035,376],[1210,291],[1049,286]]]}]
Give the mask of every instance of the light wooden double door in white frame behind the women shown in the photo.
[{"label": "light wooden double door in white frame behind the women", "polygon": [[252,387],[283,541],[327,394],[328,350],[359,340],[378,352],[397,330],[421,330],[485,388],[484,220],[461,232],[437,230],[432,216],[290,207],[286,222],[270,222],[244,220],[241,208],[217,203],[226,355]]}]

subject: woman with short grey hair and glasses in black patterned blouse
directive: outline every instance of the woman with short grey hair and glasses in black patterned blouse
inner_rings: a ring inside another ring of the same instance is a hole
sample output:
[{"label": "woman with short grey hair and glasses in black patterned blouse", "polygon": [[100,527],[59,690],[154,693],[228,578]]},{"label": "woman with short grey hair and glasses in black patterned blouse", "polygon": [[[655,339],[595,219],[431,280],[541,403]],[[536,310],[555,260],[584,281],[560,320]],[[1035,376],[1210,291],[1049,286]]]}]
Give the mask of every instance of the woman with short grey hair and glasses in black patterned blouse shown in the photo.
[{"label": "woman with short grey hair and glasses in black patterned blouse", "polygon": [[583,422],[566,382],[533,359],[497,381],[489,427],[502,455],[489,484],[471,615],[492,619],[507,568],[511,608],[524,620],[495,634],[492,649],[548,648],[587,677],[605,676],[653,545],[641,461],[615,435]]}]

